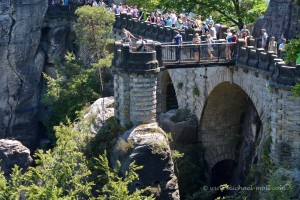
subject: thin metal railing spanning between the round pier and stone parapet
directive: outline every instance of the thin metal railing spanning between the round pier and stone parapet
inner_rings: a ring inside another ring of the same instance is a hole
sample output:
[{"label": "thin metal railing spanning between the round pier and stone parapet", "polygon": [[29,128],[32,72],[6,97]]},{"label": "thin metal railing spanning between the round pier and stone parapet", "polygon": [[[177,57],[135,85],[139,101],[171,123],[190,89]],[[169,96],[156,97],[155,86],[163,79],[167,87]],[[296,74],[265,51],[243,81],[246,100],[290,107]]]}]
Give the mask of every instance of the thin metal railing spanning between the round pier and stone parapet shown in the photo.
[{"label": "thin metal railing spanning between the round pier and stone parapet", "polygon": [[[226,52],[230,56],[226,57]],[[211,54],[211,55],[210,55]],[[162,62],[167,63],[227,63],[236,57],[236,43],[162,44]]]}]

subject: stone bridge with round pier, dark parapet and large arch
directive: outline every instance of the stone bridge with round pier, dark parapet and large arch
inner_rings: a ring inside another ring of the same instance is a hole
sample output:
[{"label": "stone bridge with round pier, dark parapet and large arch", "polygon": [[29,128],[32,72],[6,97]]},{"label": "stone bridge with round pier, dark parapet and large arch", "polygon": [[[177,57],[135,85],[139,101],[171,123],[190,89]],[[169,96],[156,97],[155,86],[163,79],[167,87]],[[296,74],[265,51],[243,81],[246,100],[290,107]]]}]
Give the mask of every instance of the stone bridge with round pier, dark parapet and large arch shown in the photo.
[{"label": "stone bridge with round pier, dark parapet and large arch", "polygon": [[[129,21],[126,23],[128,28]],[[242,124],[252,130],[246,138],[254,144],[254,151],[259,151],[262,138],[272,136],[272,159],[277,164],[300,166],[300,99],[291,94],[300,78],[299,66],[286,66],[274,52],[242,47],[241,40],[237,42],[238,57],[229,65],[196,62],[167,66],[162,49],[163,44],[153,42],[152,49],[137,52],[116,42],[115,116],[122,124],[159,122],[160,113],[170,108],[171,84],[178,107],[197,116],[195,142],[204,146],[210,169],[223,160],[239,162],[239,140],[245,137]],[[251,108],[256,117],[248,119]],[[247,142],[244,146],[247,149]]]}]

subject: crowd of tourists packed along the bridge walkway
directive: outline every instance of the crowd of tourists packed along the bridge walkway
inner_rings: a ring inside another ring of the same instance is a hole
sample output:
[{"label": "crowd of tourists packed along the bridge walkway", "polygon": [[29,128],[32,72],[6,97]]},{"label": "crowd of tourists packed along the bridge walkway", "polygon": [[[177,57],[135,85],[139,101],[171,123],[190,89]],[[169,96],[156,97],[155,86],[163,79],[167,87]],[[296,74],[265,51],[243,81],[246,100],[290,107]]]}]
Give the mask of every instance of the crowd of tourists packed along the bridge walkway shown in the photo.
[{"label": "crowd of tourists packed along the bridge walkway", "polygon": [[[184,29],[198,29],[199,33],[194,35],[192,40],[193,44],[208,43],[208,55],[209,59],[213,59],[213,43],[215,40],[219,39],[219,31],[222,22],[215,23],[212,16],[207,18],[202,18],[201,15],[195,15],[194,13],[177,13],[174,10],[168,10],[166,12],[161,9],[153,10],[148,12],[146,9],[139,9],[137,6],[129,6],[127,4],[119,3],[118,5],[112,3],[107,4],[107,1],[103,0],[49,0],[49,4],[60,4],[68,5],[69,3],[75,3],[79,5],[90,5],[90,6],[103,6],[106,7],[110,12],[114,14],[130,13],[133,18],[141,21],[146,21],[150,23],[157,24],[158,26],[169,26],[180,30]],[[176,33],[173,42],[176,45],[182,44],[182,36],[180,32]],[[131,38],[139,40],[140,38],[135,37],[128,30],[123,29],[123,41],[131,43]],[[265,51],[274,51],[278,53],[280,58],[284,57],[284,46],[286,44],[286,39],[282,39],[280,45],[277,44],[275,37],[270,37],[265,29],[261,30],[261,48]],[[228,29],[226,34],[226,41],[229,43],[226,45],[226,60],[231,60],[235,58],[234,44],[238,38],[242,38],[244,42],[244,47],[248,44],[248,38],[252,37],[250,31],[247,29],[246,25],[237,34],[234,29]],[[204,39],[204,41],[203,41]],[[196,51],[196,50],[195,50]],[[195,58],[199,58],[199,52],[195,52]]]}]

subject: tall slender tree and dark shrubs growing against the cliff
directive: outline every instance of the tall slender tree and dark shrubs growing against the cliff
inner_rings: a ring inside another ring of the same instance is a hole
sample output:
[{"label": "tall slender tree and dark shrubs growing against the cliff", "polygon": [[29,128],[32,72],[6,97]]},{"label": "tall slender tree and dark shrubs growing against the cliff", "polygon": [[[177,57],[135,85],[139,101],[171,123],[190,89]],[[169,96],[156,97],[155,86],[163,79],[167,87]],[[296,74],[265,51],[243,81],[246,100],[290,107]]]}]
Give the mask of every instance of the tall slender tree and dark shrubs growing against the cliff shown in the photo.
[{"label": "tall slender tree and dark shrubs growing against the cliff", "polygon": [[44,75],[47,91],[43,102],[50,106],[44,124],[50,133],[55,125],[66,123],[66,116],[75,120],[78,111],[101,96],[101,68],[111,66],[112,54],[107,47],[112,42],[114,15],[103,7],[91,6],[80,7],[75,13],[78,19],[73,28],[84,52],[77,58],[67,53],[64,62],[56,66],[56,77]]}]

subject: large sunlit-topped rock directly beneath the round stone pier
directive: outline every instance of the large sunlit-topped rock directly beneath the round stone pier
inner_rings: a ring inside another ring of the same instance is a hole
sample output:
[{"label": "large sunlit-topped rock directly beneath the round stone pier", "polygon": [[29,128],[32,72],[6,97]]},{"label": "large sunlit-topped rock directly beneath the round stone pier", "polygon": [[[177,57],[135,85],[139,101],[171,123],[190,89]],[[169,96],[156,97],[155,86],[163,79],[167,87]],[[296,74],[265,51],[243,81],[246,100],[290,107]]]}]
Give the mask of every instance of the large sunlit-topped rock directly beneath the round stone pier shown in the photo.
[{"label": "large sunlit-topped rock directly beneath the round stone pier", "polygon": [[124,175],[133,161],[142,170],[134,187],[151,187],[156,199],[179,199],[177,177],[171,159],[171,150],[165,133],[157,124],[137,126],[120,136],[113,149],[111,162],[121,161]]}]

